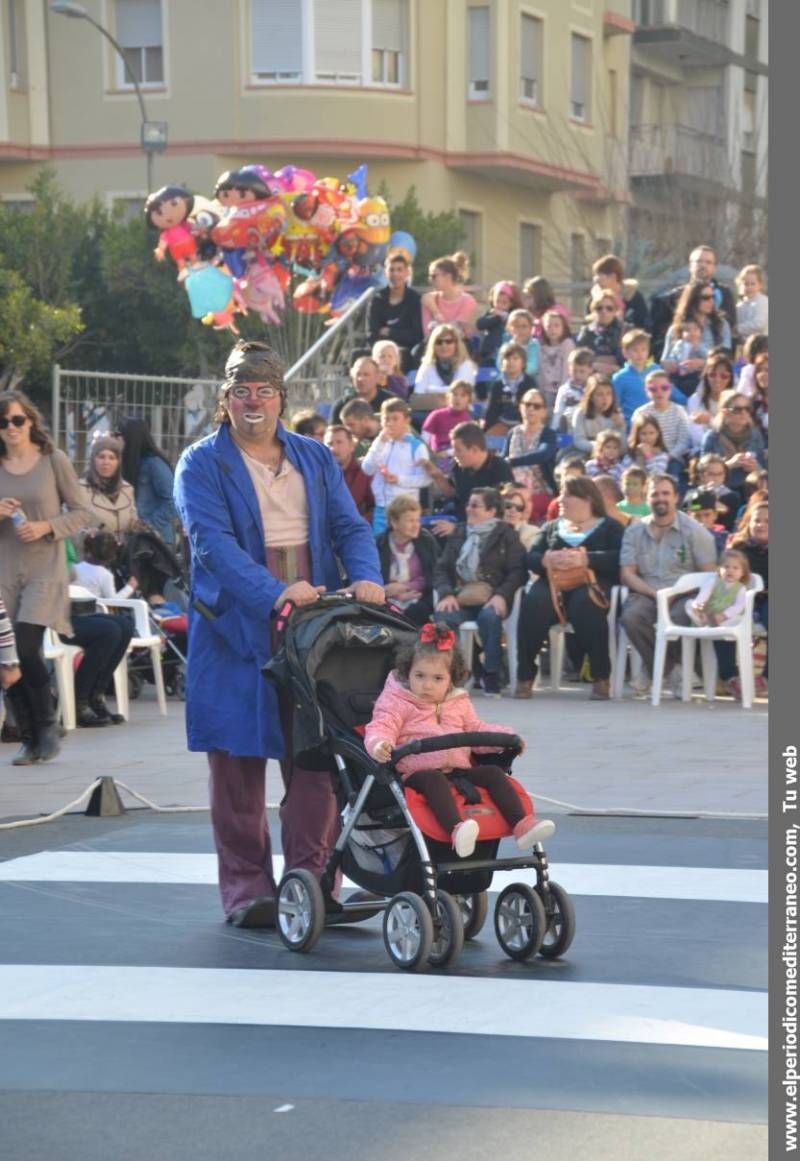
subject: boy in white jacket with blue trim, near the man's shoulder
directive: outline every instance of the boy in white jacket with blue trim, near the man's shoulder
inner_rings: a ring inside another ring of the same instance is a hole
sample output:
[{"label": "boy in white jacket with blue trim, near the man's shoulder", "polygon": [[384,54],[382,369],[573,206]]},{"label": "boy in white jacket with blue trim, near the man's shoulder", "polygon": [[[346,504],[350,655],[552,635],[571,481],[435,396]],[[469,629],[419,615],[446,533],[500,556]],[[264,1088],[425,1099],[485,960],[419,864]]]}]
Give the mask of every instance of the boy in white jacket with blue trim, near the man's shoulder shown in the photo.
[{"label": "boy in white jacket with blue trim, near the man's shoulder", "polygon": [[381,433],[363,460],[361,469],[373,477],[375,511],[373,531],[379,536],[387,528],[387,507],[396,496],[412,496],[427,488],[430,453],[411,431],[411,409],[404,399],[385,399],[381,404]]}]

